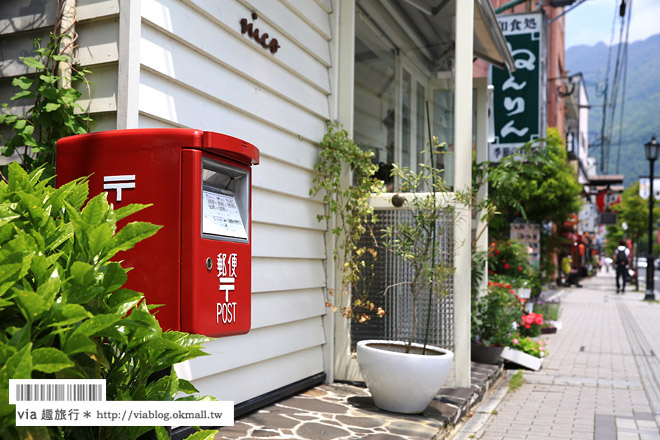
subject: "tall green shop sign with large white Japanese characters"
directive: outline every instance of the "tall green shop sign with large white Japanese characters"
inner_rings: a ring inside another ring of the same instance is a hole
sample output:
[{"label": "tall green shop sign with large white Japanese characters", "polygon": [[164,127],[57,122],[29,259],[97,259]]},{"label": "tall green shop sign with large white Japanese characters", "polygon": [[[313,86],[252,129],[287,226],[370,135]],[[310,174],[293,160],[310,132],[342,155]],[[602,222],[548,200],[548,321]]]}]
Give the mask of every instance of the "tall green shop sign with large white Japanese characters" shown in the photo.
[{"label": "tall green shop sign with large white Japanese characters", "polygon": [[526,142],[545,136],[545,21],[543,13],[497,17],[516,70],[491,69],[495,140],[489,160],[499,162]]}]

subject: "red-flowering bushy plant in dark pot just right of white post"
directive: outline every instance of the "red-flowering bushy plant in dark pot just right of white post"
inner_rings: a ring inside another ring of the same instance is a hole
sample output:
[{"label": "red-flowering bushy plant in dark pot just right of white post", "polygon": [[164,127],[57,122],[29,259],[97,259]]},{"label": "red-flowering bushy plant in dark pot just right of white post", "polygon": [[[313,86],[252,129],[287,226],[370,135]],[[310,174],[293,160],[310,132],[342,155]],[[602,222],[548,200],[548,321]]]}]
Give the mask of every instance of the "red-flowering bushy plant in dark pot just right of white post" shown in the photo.
[{"label": "red-flowering bushy plant in dark pot just right of white post", "polygon": [[493,364],[510,342],[522,313],[521,300],[506,282],[489,281],[484,296],[472,298],[472,360]]}]

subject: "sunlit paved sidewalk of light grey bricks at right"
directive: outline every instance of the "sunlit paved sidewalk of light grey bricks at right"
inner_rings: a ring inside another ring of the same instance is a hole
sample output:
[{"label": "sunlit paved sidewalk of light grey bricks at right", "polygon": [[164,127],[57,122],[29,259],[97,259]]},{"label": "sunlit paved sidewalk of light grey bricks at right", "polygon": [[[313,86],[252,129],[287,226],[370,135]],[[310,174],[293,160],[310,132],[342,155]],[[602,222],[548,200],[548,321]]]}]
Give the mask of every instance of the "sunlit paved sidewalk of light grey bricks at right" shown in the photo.
[{"label": "sunlit paved sidewalk of light grey bricks at right", "polygon": [[451,438],[660,440],[660,303],[617,295],[612,271],[583,285],[562,294],[543,368],[501,383]]}]

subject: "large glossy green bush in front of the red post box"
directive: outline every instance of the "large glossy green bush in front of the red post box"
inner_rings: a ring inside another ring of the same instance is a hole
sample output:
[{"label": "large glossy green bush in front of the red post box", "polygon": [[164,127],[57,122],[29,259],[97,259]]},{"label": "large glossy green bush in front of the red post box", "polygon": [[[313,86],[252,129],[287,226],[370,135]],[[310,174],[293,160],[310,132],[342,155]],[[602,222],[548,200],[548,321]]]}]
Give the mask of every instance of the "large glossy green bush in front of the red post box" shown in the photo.
[{"label": "large glossy green bush in front of the red post box", "polygon": [[14,162],[0,182],[0,438],[135,439],[153,428],[15,426],[9,379],[106,379],[107,400],[178,400],[197,390],[163,371],[209,340],[163,331],[143,295],[122,288],[127,270],[111,259],[159,226],[117,222],[146,206],[113,209],[103,193],[83,208],[86,181],[55,189],[43,171]]}]

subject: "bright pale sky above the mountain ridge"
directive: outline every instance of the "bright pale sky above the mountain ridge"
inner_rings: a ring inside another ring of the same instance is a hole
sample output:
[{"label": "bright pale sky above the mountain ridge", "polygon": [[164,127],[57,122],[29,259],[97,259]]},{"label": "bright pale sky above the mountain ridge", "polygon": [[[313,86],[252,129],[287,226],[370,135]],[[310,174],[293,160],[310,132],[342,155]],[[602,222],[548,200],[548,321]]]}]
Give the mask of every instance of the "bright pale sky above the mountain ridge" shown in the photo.
[{"label": "bright pale sky above the mountain ridge", "polygon": [[[609,45],[615,13],[617,23],[613,43],[617,44],[621,23],[618,16],[620,3],[621,0],[586,0],[569,11],[565,16],[566,49],[580,44],[593,46],[599,42]],[[629,43],[660,33],[660,0],[626,0],[626,3],[632,7]]]}]

